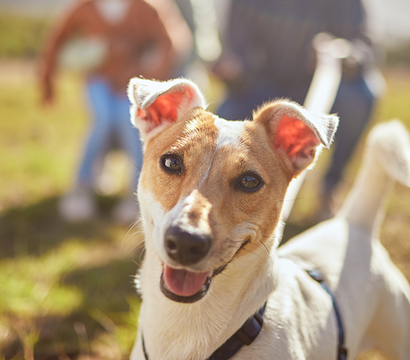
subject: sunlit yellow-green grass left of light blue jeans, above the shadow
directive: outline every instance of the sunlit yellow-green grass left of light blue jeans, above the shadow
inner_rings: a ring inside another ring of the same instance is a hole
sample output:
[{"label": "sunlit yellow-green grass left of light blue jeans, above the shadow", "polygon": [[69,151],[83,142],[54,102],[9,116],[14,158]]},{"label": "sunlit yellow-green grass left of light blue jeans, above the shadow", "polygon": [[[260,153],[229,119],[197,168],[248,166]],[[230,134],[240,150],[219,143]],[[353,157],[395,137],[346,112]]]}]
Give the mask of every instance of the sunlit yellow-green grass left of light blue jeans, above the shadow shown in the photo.
[{"label": "sunlit yellow-green grass left of light blue jeans, above the shadow", "polygon": [[57,103],[42,108],[34,70],[0,62],[8,73],[0,83],[0,209],[67,188],[87,127],[80,79],[62,74]]}]

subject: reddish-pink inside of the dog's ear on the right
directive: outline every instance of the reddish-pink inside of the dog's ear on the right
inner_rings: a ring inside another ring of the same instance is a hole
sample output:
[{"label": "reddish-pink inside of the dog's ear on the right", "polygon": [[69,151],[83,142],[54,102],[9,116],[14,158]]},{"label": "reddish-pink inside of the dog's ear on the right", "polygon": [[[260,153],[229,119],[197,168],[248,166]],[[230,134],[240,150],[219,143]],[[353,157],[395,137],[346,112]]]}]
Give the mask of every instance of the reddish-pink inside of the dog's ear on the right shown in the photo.
[{"label": "reddish-pink inside of the dog's ear on the right", "polygon": [[274,147],[285,150],[287,156],[311,155],[319,143],[312,129],[303,121],[284,116],[278,122]]}]

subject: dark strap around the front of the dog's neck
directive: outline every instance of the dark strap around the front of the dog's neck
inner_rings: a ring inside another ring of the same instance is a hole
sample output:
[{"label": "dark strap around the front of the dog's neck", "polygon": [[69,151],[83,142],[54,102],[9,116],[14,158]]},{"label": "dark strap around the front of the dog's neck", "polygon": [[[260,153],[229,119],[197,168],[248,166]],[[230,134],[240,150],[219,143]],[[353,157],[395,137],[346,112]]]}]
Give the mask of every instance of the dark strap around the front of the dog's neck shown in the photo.
[{"label": "dark strap around the front of the dog's neck", "polygon": [[[235,332],[224,344],[217,348],[206,360],[228,360],[235,355],[243,345],[250,345],[256,339],[263,325],[263,314],[266,303],[244,322],[244,325]],[[145,350],[144,337],[141,334],[142,346],[145,360],[149,360],[147,350]]]}]

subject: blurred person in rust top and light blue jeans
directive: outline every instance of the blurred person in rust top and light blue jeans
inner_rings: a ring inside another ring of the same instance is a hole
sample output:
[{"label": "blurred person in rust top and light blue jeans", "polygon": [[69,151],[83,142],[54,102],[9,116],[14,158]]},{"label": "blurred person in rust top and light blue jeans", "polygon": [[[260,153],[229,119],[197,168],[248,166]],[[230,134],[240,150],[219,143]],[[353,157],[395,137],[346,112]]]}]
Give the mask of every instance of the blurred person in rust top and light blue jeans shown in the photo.
[{"label": "blurred person in rust top and light blue jeans", "polygon": [[[96,215],[93,174],[114,137],[130,156],[134,170],[129,193],[114,209],[114,217],[128,224],[136,220],[138,206],[133,193],[143,155],[139,132],[130,123],[126,89],[134,76],[166,80],[172,75],[178,51],[170,30],[154,6],[144,0],[75,0],[51,31],[40,59],[42,102],[49,104],[55,99],[56,69],[66,62],[84,71],[93,120],[75,185],[59,204],[64,219],[79,221]],[[184,31],[179,35],[181,42],[189,41]]]}]

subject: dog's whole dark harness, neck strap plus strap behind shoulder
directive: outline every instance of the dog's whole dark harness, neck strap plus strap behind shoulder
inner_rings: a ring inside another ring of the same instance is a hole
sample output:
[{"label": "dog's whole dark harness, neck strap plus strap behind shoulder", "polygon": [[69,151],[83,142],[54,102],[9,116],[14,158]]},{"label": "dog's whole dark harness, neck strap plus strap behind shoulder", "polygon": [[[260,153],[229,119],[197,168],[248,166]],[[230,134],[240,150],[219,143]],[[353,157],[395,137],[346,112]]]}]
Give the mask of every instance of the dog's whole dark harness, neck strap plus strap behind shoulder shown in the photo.
[{"label": "dog's whole dark harness, neck strap plus strap behind shoulder", "polygon": [[[339,309],[337,307],[337,303],[335,300],[335,296],[333,295],[332,291],[325,282],[323,282],[323,276],[321,271],[319,270],[307,270],[310,277],[319,282],[321,287],[326,290],[326,292],[332,298],[333,309],[335,309],[335,315],[337,320],[337,328],[339,331],[339,344],[337,348],[337,360],[346,360],[348,351],[344,346],[344,330],[343,324],[341,323],[341,316],[339,313]],[[240,327],[240,329],[235,332],[224,344],[217,348],[211,357],[208,357],[206,360],[228,360],[235,355],[243,345],[250,345],[253,340],[256,339],[260,330],[262,329],[263,325],[263,314],[265,313],[266,303],[263,305],[258,312],[253,314],[247,321],[244,322],[244,325]],[[147,350],[145,350],[145,343],[144,338],[141,335],[142,345],[143,345],[143,352],[145,360],[149,360]]]}]

